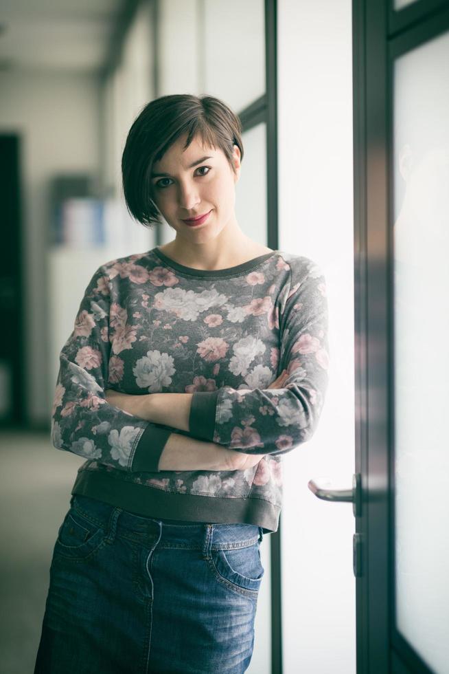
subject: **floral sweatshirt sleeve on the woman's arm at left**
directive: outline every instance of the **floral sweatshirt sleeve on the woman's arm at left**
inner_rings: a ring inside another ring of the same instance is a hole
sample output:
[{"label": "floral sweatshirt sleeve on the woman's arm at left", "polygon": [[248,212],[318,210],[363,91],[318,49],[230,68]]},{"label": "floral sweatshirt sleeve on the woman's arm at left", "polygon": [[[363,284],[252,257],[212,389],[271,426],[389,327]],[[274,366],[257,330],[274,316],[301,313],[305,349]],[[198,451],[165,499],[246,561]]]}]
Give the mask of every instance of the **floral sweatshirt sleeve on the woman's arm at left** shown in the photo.
[{"label": "floral sweatshirt sleeve on the woman's arm at left", "polygon": [[[93,274],[73,331],[60,352],[51,411],[56,449],[127,472],[159,472],[159,457],[174,429],[108,404],[115,367],[109,340],[111,294],[106,270]],[[111,375],[110,375],[111,373]]]}]

